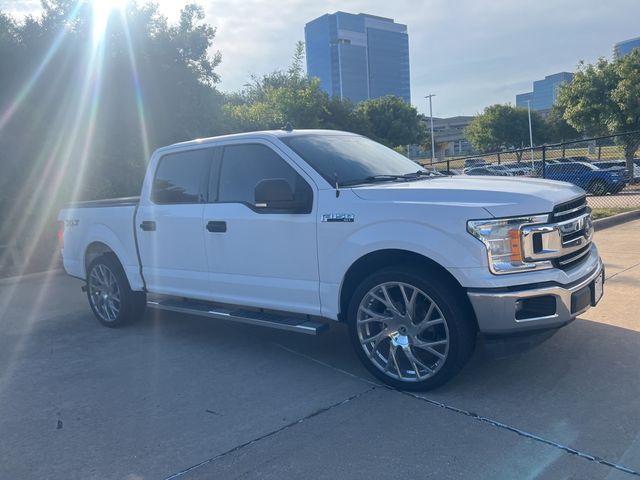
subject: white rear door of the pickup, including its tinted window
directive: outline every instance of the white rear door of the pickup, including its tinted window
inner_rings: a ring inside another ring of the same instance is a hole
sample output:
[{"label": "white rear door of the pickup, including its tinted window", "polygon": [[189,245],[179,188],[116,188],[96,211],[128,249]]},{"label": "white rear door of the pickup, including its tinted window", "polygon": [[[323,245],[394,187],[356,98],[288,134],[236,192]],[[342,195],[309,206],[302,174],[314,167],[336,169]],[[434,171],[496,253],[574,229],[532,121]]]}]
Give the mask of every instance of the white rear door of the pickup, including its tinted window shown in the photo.
[{"label": "white rear door of the pickup, including its tinted window", "polygon": [[169,153],[158,161],[149,198],[136,217],[147,289],[206,298],[209,287],[202,214],[212,148]]}]

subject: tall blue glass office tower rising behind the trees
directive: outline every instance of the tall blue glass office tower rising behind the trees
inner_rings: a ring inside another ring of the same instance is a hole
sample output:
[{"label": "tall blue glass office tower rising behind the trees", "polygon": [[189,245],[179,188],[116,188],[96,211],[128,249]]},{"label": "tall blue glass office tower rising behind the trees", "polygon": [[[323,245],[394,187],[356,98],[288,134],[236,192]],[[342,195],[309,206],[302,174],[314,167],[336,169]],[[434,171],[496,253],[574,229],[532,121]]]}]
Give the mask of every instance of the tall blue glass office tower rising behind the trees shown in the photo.
[{"label": "tall blue glass office tower rising behind the trees", "polygon": [[325,14],[304,27],[307,73],[330,96],[411,102],[407,26],[364,13]]}]

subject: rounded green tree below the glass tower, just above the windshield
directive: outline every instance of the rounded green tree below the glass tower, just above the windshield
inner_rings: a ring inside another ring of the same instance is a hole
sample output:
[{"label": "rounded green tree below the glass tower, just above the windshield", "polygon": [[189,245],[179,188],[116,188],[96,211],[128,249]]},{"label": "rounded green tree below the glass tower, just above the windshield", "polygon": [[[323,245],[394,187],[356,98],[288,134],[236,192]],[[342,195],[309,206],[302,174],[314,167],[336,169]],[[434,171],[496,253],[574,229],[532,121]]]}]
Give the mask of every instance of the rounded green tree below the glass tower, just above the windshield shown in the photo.
[{"label": "rounded green tree below the glass tower, just above the windshield", "polygon": [[423,144],[428,135],[415,107],[399,97],[365,100],[352,113],[353,130],[388,147]]}]

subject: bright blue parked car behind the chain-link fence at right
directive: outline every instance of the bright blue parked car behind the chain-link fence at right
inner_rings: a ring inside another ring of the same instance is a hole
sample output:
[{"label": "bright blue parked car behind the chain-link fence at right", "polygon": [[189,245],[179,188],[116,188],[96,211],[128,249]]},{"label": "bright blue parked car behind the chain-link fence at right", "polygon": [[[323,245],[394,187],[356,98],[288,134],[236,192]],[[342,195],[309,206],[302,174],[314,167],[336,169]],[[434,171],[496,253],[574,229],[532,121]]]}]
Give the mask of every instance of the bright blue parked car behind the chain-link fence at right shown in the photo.
[{"label": "bright blue parked car behind the chain-link fence at right", "polygon": [[593,195],[618,193],[627,184],[627,171],[614,167],[601,170],[591,163],[555,163],[547,165],[545,178],[573,183]]}]

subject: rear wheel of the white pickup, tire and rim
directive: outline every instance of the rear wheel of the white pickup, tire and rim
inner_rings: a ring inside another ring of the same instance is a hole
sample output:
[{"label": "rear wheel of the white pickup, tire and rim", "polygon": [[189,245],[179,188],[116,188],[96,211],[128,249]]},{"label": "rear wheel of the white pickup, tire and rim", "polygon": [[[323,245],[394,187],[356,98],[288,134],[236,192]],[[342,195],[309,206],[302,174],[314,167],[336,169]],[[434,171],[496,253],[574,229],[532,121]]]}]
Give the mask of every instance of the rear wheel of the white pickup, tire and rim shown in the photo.
[{"label": "rear wheel of the white pickup, tire and rim", "polygon": [[[109,282],[113,280],[115,286],[102,288],[103,293],[98,293],[95,288],[97,282],[105,277]],[[116,289],[119,301],[115,300]],[[107,297],[109,300],[106,300]],[[87,267],[87,299],[98,321],[109,328],[120,327],[139,319],[144,315],[147,303],[144,292],[131,290],[122,265],[112,254],[101,255]]]}]

